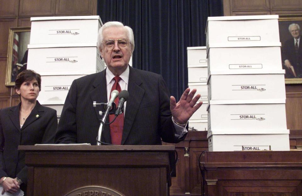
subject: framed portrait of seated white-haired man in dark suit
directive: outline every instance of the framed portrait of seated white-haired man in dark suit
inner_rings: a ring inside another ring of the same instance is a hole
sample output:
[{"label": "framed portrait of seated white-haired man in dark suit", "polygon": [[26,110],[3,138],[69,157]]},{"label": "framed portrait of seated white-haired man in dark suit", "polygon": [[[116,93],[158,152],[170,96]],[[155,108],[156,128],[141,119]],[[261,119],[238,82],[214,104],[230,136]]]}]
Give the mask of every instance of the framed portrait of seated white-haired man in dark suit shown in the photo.
[{"label": "framed portrait of seated white-haired man in dark suit", "polygon": [[279,15],[282,68],[285,84],[302,84],[302,15]]}]

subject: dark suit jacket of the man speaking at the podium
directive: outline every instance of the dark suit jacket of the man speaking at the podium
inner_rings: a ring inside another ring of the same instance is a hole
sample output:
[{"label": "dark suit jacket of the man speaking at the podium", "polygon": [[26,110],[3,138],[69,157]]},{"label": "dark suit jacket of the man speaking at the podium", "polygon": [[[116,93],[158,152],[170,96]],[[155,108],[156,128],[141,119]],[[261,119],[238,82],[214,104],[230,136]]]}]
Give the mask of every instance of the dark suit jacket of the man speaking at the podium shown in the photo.
[{"label": "dark suit jacket of the man speaking at the podium", "polygon": [[[163,78],[151,72],[130,67],[122,145],[160,145],[177,143],[171,119],[170,95]],[[56,133],[56,143],[96,144],[99,111],[93,107],[107,102],[106,71],[73,81],[66,97]],[[101,140],[111,143],[109,125],[105,125]]]}]

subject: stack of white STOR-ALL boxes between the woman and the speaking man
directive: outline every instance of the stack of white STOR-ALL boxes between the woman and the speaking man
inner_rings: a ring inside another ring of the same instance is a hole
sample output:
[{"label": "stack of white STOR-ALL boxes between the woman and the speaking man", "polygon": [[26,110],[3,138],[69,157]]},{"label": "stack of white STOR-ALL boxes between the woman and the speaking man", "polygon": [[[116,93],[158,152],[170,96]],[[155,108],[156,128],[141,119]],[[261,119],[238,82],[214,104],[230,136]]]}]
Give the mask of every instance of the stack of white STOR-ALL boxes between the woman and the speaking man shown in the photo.
[{"label": "stack of white STOR-ALL boxes between the woman and the speaking man", "polygon": [[104,69],[97,49],[101,25],[99,16],[31,18],[27,69],[41,75],[37,100],[56,109],[58,120],[72,81]]}]

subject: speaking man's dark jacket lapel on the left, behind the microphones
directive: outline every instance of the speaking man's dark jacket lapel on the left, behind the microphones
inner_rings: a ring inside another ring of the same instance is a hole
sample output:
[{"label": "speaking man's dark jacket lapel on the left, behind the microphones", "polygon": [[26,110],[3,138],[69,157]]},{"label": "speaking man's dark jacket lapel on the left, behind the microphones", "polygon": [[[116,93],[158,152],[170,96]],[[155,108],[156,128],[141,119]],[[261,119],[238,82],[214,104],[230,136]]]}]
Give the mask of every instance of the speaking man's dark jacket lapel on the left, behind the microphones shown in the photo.
[{"label": "speaking man's dark jacket lapel on the left, behind the microphones", "polygon": [[[99,74],[95,78],[92,86],[95,88],[90,92],[91,102],[96,101],[97,103],[107,103],[107,87],[106,87],[106,69]],[[94,107],[95,114],[97,115],[98,119],[101,119],[102,116],[99,115],[99,111],[102,111],[103,114],[105,110],[103,106],[96,106]],[[108,118],[107,118],[108,122]],[[110,130],[109,126],[105,125],[102,132],[102,139],[103,142],[111,143],[110,137]]]}]

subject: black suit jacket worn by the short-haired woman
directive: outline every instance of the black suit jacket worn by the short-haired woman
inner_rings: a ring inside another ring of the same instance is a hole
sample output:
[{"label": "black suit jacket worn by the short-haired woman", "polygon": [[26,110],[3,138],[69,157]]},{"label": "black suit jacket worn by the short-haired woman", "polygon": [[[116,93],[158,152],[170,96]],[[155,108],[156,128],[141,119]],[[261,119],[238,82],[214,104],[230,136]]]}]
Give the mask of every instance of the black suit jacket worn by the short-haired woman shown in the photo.
[{"label": "black suit jacket worn by the short-haired woman", "polygon": [[58,120],[56,110],[37,101],[20,129],[20,105],[0,110],[0,177],[19,177],[26,184],[27,166],[18,145],[53,144]]}]

